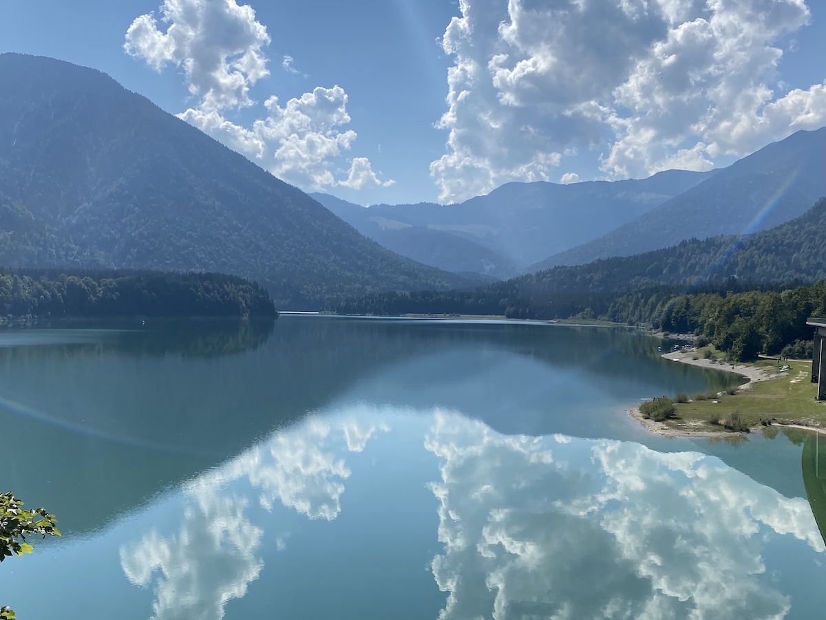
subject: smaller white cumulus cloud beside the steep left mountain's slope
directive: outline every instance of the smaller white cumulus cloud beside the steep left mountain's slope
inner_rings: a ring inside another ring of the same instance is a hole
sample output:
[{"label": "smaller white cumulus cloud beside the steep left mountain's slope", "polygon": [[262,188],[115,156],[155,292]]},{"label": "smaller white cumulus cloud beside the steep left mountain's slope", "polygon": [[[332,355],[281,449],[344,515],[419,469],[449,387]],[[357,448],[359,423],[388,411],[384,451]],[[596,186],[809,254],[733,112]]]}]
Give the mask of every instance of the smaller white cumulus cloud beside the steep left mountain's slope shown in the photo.
[{"label": "smaller white cumulus cloud beside the steep left mountain's slope", "polygon": [[[278,97],[268,97],[265,116],[249,126],[225,116],[255,105],[249,89],[269,75],[263,53],[269,43],[267,28],[248,5],[235,0],[164,0],[160,19],[146,14],[132,22],[124,49],[157,71],[167,64],[183,68],[197,105],[178,116],[275,176],[310,189],[392,183],[381,182],[366,158],[354,159],[346,179],[335,178],[332,171],[356,139],[356,132],[346,128],[347,93],[338,85],[316,87],[283,106]],[[293,63],[292,56],[284,56],[282,68],[298,73]]]}]

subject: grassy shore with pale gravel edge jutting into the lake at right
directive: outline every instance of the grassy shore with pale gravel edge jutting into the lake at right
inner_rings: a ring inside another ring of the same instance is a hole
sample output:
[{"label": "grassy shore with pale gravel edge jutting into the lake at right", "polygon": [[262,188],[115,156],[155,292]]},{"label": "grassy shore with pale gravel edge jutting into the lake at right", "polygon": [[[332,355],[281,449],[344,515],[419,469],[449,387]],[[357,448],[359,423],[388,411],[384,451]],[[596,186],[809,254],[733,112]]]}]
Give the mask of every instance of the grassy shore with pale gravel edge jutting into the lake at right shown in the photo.
[{"label": "grassy shore with pale gravel edge jutting into the lake at right", "polygon": [[[810,381],[812,362],[809,360],[779,362],[762,359],[752,364],[732,365],[712,362],[705,357],[704,350],[672,353],[665,357],[676,362],[735,372],[749,376],[751,381],[737,390],[676,398],[673,416],[661,422],[643,419],[638,410],[631,412],[654,433],[669,436],[699,433],[709,436],[745,432],[774,424],[826,431],[826,403],[815,400],[817,386]],[[781,372],[781,367],[785,365],[789,369]]]}]

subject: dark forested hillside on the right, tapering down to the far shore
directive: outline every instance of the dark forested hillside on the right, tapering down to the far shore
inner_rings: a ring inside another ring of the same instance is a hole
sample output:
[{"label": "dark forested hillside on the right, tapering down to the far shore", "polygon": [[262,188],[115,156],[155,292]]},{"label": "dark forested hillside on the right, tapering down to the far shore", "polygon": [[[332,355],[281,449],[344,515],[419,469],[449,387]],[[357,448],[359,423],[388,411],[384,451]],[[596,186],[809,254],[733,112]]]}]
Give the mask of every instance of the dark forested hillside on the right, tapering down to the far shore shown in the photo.
[{"label": "dark forested hillside on the right, tapering down to the far shore", "polygon": [[691,239],[671,248],[628,257],[601,258],[586,265],[558,266],[496,282],[473,291],[421,291],[349,298],[337,312],[459,313],[523,319],[603,310],[612,296],[657,286],[691,291],[734,279],[767,285],[826,279],[826,198],[803,215],[771,230],[738,237]]}]

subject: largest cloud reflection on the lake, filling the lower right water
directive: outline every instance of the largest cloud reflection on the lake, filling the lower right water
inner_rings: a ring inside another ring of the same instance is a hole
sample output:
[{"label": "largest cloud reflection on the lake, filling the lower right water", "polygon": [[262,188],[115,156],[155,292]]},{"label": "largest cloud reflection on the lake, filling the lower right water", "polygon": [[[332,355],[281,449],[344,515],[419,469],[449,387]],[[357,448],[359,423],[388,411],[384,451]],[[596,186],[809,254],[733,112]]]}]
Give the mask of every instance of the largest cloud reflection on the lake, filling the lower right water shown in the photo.
[{"label": "largest cloud reflection on the lake, filling the lower right water", "polygon": [[[561,441],[560,441],[561,440]],[[809,505],[714,457],[506,437],[437,413],[439,618],[783,618],[768,537],[824,551]]]}]

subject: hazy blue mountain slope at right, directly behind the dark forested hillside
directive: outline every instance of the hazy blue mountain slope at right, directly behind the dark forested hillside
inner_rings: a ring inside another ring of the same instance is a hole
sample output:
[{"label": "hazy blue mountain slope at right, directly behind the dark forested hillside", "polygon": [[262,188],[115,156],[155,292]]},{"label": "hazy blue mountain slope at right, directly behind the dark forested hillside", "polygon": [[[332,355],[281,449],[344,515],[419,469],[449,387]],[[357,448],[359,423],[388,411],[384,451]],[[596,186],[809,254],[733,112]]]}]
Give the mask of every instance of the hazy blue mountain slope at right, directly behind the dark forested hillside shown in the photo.
[{"label": "hazy blue mountain slope at right, directly behind the dark forested hillside", "polygon": [[766,230],[800,215],[826,195],[826,127],[798,131],[586,244],[531,270],[630,256],[682,239]]}]

